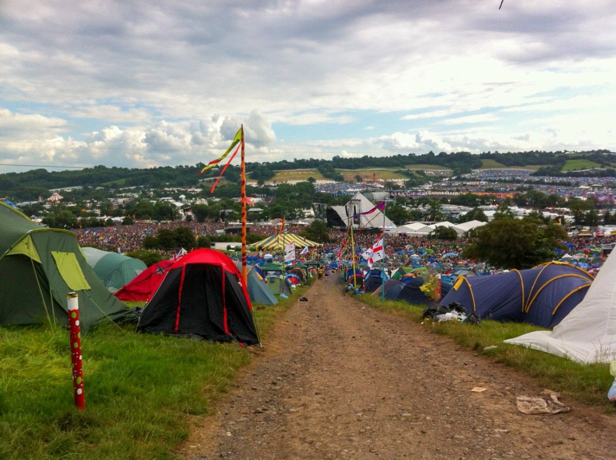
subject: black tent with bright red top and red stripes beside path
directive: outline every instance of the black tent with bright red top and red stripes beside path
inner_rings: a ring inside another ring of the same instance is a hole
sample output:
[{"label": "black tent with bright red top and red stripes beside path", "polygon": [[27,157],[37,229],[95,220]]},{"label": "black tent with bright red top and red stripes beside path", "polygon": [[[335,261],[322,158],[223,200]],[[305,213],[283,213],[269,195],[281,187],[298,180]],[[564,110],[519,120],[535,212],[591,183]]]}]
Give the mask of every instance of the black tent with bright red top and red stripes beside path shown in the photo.
[{"label": "black tent with bright red top and red stripes beside path", "polygon": [[169,267],[137,329],[252,345],[259,337],[251,309],[233,260],[213,249],[195,249]]}]

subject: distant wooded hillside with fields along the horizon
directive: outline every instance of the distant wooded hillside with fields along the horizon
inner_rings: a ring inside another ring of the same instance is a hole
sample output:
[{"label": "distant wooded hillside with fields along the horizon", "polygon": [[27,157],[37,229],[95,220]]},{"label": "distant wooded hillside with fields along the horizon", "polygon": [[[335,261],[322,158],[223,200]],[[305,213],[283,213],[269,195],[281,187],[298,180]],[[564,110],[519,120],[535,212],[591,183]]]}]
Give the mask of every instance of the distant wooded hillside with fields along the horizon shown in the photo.
[{"label": "distant wooded hillside with fields along the horizon", "polygon": [[[533,175],[616,175],[614,165],[616,154],[608,150],[585,152],[545,152],[525,151],[516,153],[486,152],[472,155],[469,152],[424,155],[392,155],[385,157],[362,156],[361,158],[342,158],[334,156],[326,159],[294,159],[293,161],[271,161],[247,163],[246,171],[251,182],[277,182],[286,180],[314,179],[355,180],[361,176],[371,179],[410,179],[421,182],[418,172],[450,170],[453,174],[469,172],[472,169],[494,167],[518,167],[536,169]],[[190,187],[198,185],[200,179],[217,176],[219,169],[213,168],[203,176],[197,172],[205,166],[164,166],[152,169],[95,166],[79,171],[49,172],[34,169],[27,172],[0,174],[0,198],[15,200],[36,200],[38,196],[48,196],[52,188],[62,187],[102,187],[113,190],[120,187],[150,185],[152,187]],[[594,168],[594,169],[593,169]],[[591,170],[591,171],[588,171]],[[413,172],[418,171],[418,172]],[[239,179],[239,167],[230,166],[225,172],[229,182]]]}]

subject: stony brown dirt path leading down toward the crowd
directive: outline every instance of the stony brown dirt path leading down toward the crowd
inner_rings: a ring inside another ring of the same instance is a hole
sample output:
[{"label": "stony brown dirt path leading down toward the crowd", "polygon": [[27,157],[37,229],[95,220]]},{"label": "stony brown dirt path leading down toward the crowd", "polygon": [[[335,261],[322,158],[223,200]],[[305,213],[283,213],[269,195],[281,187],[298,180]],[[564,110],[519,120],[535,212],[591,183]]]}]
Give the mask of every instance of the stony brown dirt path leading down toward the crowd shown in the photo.
[{"label": "stony brown dirt path leading down toward the crowd", "polygon": [[616,422],[600,409],[518,413],[517,396],[542,390],[532,379],[365,306],[334,278],[278,323],[217,414],[194,419],[182,458],[616,458]]}]

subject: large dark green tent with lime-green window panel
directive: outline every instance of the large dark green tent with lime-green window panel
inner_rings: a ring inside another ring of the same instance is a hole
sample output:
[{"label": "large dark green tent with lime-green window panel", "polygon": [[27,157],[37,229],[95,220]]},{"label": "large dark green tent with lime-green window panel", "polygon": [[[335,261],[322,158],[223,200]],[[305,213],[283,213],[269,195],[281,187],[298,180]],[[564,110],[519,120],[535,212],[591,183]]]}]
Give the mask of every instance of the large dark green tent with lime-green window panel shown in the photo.
[{"label": "large dark green tent with lime-green window panel", "polygon": [[75,233],[34,224],[0,202],[0,325],[68,325],[67,294],[79,296],[81,330],[136,315],[105,289]]}]

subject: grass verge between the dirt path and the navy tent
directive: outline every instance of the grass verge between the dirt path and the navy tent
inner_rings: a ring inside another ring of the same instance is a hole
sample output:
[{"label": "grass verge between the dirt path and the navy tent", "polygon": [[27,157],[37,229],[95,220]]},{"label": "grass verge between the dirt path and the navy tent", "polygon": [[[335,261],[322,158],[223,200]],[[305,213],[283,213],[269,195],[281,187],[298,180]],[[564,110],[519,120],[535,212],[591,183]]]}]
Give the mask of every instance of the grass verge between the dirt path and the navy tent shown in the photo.
[{"label": "grass verge between the dirt path and the navy tent", "polygon": [[[376,309],[400,315],[410,321],[421,322],[423,307],[408,305],[405,302],[381,303],[380,298],[366,295],[359,296],[359,299]],[[451,337],[458,344],[482,355],[488,355],[499,363],[530,374],[545,388],[561,392],[582,403],[603,406],[611,413],[616,412],[615,406],[607,401],[606,396],[614,381],[607,365],[582,365],[567,358],[503,343],[505,339],[541,330],[538,326],[484,320],[479,326],[445,322],[426,323],[424,327],[433,333]],[[496,348],[484,350],[491,345],[496,345]]]}]

